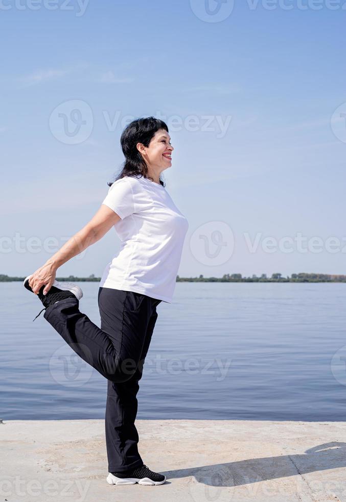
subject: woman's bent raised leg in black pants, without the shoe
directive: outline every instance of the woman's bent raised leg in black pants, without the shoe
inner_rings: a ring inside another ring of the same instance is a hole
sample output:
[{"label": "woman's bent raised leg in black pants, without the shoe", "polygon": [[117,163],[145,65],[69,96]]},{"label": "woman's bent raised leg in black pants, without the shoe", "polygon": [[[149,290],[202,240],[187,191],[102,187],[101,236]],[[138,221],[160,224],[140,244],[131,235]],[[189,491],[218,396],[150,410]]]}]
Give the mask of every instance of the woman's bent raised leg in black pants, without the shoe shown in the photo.
[{"label": "woman's bent raised leg in black pants, without the shoe", "polygon": [[54,303],[45,310],[44,318],[107,380],[126,382],[141,358],[152,299],[132,291],[103,287],[99,288],[98,298],[104,319],[113,326],[111,331],[103,331],[82,313],[77,298]]}]

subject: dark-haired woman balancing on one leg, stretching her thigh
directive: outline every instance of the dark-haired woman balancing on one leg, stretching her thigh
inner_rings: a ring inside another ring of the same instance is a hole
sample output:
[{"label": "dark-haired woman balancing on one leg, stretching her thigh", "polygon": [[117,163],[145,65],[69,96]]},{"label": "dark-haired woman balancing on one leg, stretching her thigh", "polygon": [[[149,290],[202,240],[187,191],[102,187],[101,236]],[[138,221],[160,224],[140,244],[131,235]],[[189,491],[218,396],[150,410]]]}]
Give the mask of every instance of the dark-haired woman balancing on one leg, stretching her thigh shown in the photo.
[{"label": "dark-haired woman balancing on one leg, stretching her thigh", "polygon": [[[123,170],[116,181],[108,183],[98,212],[24,281],[42,301],[43,317],[108,380],[105,433],[111,485],[161,485],[166,480],[143,464],[134,421],[156,307],[162,301],[172,303],[189,226],[160,179],[172,165],[170,139],[162,120],[148,117],[131,122],[121,136]],[[112,226],[122,242],[100,282],[100,329],[79,310],[82,290],[55,277],[59,266],[101,239]]]}]

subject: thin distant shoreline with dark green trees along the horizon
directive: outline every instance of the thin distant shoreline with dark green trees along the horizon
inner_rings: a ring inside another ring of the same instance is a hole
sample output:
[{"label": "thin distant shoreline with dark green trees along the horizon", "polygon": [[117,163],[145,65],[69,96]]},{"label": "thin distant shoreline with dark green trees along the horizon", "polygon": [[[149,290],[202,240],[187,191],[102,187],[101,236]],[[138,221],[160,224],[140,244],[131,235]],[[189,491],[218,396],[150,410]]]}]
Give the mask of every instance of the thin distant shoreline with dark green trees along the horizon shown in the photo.
[{"label": "thin distant shoreline with dark green trees along the horizon", "polygon": [[[5,274],[0,274],[0,282],[23,282],[25,277],[11,277]],[[95,277],[93,274],[89,277],[57,277],[57,281],[63,282],[100,282],[101,277]],[[328,274],[292,274],[290,277],[283,277],[281,274],[272,274],[267,277],[265,274],[261,276],[242,277],[241,274],[225,274],[223,277],[179,277],[176,282],[346,282],[346,276],[343,275],[328,275]]]}]

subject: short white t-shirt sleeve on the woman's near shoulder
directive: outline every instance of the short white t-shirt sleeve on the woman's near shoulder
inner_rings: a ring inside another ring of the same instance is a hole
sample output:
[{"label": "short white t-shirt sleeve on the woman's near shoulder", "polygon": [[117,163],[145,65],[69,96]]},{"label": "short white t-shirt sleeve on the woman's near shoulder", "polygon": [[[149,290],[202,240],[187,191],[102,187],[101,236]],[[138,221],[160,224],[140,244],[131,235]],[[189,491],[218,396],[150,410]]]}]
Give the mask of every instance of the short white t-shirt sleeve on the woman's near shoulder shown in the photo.
[{"label": "short white t-shirt sleeve on the woman's near shoulder", "polygon": [[102,204],[110,207],[123,220],[134,213],[134,200],[129,177],[120,178],[111,184]]}]

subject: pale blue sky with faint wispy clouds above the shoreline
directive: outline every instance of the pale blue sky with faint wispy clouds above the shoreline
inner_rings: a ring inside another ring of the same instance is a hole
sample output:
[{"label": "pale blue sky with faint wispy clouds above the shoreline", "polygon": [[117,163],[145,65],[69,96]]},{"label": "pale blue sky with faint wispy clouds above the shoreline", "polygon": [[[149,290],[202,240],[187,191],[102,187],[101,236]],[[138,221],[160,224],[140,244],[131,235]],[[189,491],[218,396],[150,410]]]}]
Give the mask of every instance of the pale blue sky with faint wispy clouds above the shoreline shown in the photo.
[{"label": "pale blue sky with faint wispy clouds above the shoreline", "polygon": [[[126,120],[154,115],[189,221],[180,276],[346,274],[343,0],[0,4],[0,273],[87,223]],[[111,229],[57,275],[99,276],[118,248]]]}]

